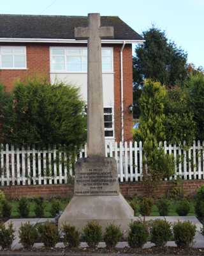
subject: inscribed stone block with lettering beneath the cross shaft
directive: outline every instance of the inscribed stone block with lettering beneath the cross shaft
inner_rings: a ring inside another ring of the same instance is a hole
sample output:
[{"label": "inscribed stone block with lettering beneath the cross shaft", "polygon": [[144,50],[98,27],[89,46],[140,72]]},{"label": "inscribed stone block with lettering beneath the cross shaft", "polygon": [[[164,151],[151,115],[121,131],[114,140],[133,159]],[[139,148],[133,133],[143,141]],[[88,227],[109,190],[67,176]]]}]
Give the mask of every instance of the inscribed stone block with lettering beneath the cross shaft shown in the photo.
[{"label": "inscribed stone block with lettering beneath the cross shaft", "polygon": [[75,195],[119,195],[119,181],[115,159],[92,161],[84,159],[76,164]]}]

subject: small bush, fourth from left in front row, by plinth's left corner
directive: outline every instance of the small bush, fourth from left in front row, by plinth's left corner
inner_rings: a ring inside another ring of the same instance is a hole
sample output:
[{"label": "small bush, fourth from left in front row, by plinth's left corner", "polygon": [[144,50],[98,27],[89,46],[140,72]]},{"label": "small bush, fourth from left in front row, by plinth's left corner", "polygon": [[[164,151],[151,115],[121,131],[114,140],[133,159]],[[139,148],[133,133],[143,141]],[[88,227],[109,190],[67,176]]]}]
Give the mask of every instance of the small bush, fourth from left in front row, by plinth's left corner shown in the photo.
[{"label": "small bush, fourth from left in front row, by plinth's left corner", "polygon": [[80,232],[76,230],[74,226],[64,225],[62,227],[62,232],[64,232],[63,243],[65,246],[78,247],[80,244]]}]

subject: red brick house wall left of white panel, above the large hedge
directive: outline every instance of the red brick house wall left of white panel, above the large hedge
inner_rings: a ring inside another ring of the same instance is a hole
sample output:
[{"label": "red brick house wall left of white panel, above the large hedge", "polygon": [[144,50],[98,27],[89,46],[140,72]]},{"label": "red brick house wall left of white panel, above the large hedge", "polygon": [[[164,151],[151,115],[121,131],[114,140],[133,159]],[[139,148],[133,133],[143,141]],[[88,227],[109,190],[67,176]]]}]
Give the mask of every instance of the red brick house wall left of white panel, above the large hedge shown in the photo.
[{"label": "red brick house wall left of white panel, above the large hedge", "polygon": [[[24,44],[25,45],[25,44]],[[22,81],[27,77],[46,77],[50,79],[49,46],[43,44],[27,44],[27,70],[0,70],[0,82],[10,92],[17,79]]]}]

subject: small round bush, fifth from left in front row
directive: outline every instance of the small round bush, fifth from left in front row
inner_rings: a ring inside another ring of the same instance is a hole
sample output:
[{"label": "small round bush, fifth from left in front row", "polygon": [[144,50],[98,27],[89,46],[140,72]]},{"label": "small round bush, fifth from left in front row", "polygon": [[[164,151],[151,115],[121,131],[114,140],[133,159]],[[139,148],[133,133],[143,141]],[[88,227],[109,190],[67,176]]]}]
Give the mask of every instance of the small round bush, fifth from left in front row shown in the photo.
[{"label": "small round bush, fifth from left in front row", "polygon": [[96,248],[102,240],[102,227],[96,221],[91,221],[83,229],[83,239],[91,248]]}]

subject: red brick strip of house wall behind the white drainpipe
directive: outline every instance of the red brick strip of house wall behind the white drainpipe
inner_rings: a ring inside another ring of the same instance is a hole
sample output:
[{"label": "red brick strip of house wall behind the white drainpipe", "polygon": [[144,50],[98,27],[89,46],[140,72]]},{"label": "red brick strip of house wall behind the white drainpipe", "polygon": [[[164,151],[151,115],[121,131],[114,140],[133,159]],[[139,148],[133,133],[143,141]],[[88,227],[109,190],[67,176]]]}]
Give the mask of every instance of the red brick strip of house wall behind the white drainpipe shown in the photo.
[{"label": "red brick strip of house wall behind the white drainpipe", "polygon": [[[115,140],[122,140],[121,132],[121,90],[120,90],[120,49],[122,45],[114,47],[114,108],[115,108]],[[128,107],[133,104],[133,60],[132,47],[126,45],[123,53],[123,93],[124,93],[124,140],[133,138],[133,114],[129,113]]]}]

